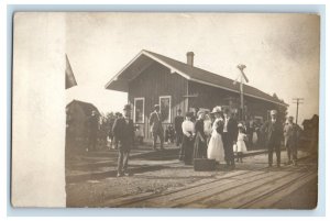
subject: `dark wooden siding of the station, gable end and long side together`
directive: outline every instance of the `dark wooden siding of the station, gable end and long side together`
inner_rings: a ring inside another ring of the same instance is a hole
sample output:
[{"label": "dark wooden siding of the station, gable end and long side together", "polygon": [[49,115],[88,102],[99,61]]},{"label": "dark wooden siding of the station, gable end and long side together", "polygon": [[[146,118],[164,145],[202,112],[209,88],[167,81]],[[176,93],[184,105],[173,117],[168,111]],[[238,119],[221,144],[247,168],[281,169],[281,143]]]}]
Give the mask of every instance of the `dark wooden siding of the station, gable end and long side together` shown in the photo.
[{"label": "dark wooden siding of the station, gable end and long side together", "polygon": [[[185,96],[198,95],[196,98]],[[206,108],[212,110],[216,106],[229,106],[228,98],[239,99],[240,95],[224,89],[202,85],[195,81],[188,81],[178,74],[172,74],[170,70],[158,63],[151,64],[138,78],[129,84],[129,102],[134,106],[134,98],[144,98],[144,123],[136,123],[143,126],[144,135],[151,139],[148,119],[153,112],[154,104],[160,103],[161,96],[170,96],[170,122],[177,115],[177,110],[183,110],[183,115],[190,108]],[[244,97],[248,106],[248,114],[267,118],[267,110],[276,106]],[[134,108],[133,108],[134,110]],[[132,117],[133,117],[132,112]],[[167,126],[168,123],[163,123]]]}]

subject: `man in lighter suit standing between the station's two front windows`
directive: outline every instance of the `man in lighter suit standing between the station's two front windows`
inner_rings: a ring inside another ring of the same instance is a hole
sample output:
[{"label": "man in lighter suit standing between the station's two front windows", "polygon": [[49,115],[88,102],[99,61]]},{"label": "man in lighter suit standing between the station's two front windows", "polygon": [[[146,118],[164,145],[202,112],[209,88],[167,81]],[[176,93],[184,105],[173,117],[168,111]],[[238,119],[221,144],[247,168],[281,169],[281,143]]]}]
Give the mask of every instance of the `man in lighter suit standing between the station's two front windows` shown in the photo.
[{"label": "man in lighter suit standing between the station's two front windows", "polygon": [[160,112],[160,106],[155,104],[154,106],[154,112],[150,114],[150,126],[151,126],[151,132],[154,139],[153,142],[153,147],[156,150],[156,142],[157,142],[157,136],[160,136],[161,140],[161,150],[164,150],[163,143],[164,143],[164,130],[162,126],[162,115]]}]

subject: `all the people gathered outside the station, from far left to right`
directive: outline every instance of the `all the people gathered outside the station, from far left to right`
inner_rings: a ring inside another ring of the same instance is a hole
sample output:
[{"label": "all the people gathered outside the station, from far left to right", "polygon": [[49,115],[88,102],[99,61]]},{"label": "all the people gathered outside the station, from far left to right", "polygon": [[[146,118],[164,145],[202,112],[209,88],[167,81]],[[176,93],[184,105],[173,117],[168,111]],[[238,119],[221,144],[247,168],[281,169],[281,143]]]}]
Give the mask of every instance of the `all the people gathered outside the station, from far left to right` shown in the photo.
[{"label": "all the people gathered outside the station, from far left to right", "polygon": [[[95,119],[95,113],[92,113],[90,124],[96,124]],[[160,139],[160,148],[164,150],[164,129],[158,104],[154,106],[148,123],[153,136],[153,148],[157,150],[156,143]],[[194,165],[195,159],[205,158],[213,159],[233,169],[235,156],[237,163],[242,163],[243,153],[248,151],[249,143],[256,143],[260,140],[256,137],[256,130],[253,130],[255,134],[251,133],[251,129],[256,126],[248,124],[249,121],[248,123],[239,122],[228,108],[223,109],[220,106],[215,107],[211,112],[199,110],[196,113],[187,112],[185,117],[182,115],[182,110],[178,110],[174,128],[172,125],[166,128],[165,141],[176,142],[176,145],[180,147],[179,161],[186,165]],[[273,152],[276,153],[276,165],[280,166],[282,141],[287,150],[287,164],[297,165],[299,126],[294,123],[293,117],[289,117],[283,124],[277,118],[277,111],[272,110],[271,120],[258,125],[257,131],[265,140],[270,167],[273,166]],[[90,141],[95,141],[96,135],[92,130],[89,136]],[[111,136],[119,151],[118,176],[129,176],[129,154],[136,137],[136,126],[131,119],[130,104],[124,106],[123,114],[117,115]],[[90,142],[89,145],[94,150],[96,144]]]}]

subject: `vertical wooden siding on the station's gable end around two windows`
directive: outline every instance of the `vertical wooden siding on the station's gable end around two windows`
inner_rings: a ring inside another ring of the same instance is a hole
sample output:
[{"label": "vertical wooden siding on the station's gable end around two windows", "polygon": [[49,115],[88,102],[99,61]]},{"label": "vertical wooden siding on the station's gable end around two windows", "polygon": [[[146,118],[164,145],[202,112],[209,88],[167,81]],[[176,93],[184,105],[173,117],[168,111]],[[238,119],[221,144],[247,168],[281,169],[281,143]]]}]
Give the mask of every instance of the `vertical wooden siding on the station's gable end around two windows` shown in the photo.
[{"label": "vertical wooden siding on the station's gable end around two windows", "polygon": [[[170,70],[158,63],[153,63],[138,78],[129,84],[129,102],[134,106],[134,98],[145,98],[144,103],[144,135],[151,137],[148,119],[153,112],[154,104],[160,103],[161,96],[170,96],[170,123],[177,110],[183,113],[187,109],[187,101],[184,96],[187,93],[187,80],[178,74],[170,74]],[[133,113],[132,113],[133,114]],[[166,126],[167,123],[164,123]]]}]

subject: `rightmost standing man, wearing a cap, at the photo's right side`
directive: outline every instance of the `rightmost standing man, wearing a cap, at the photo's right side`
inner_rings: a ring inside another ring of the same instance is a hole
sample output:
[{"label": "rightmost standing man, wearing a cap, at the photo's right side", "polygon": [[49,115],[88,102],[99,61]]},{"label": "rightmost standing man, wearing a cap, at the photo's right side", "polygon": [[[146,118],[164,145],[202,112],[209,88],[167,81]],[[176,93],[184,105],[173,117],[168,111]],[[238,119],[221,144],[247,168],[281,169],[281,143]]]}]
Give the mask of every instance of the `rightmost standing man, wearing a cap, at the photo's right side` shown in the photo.
[{"label": "rightmost standing man, wearing a cap, at the photo's right side", "polygon": [[[294,117],[288,117],[286,124],[284,125],[284,144],[287,151],[288,162],[287,164],[297,165],[297,141],[298,141],[299,128],[294,123]],[[292,162],[293,159],[293,162]]]}]

